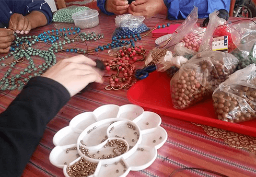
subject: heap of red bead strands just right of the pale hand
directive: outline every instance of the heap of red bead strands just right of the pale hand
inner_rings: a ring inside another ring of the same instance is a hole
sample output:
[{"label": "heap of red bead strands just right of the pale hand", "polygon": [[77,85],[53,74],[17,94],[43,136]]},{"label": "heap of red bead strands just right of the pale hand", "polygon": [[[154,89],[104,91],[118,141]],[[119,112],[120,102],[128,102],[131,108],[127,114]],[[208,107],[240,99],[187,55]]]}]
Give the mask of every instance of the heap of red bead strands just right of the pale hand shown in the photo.
[{"label": "heap of red bead strands just right of the pale hand", "polygon": [[[143,61],[145,59],[145,49],[142,46],[123,48],[119,51],[117,56],[113,59],[102,60],[106,66],[106,70],[111,69],[116,71],[117,74],[112,74],[109,78],[109,83],[106,90],[120,90],[125,87],[131,87],[136,79],[134,77],[135,62]],[[142,58],[137,58],[137,56],[142,56]]]}]

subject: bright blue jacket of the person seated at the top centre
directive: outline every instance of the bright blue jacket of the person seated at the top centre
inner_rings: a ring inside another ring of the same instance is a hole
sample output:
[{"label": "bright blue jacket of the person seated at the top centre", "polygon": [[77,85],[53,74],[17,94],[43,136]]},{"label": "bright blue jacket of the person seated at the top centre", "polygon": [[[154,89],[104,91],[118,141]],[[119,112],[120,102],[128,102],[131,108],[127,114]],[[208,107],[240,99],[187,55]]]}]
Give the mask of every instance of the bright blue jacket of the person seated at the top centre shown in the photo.
[{"label": "bright blue jacket of the person seated at the top centre", "polygon": [[[97,0],[97,5],[104,14],[113,15],[105,9],[106,0]],[[168,8],[168,18],[185,19],[194,6],[198,7],[199,18],[206,18],[214,10],[226,9],[229,11],[230,0],[164,0],[166,7]]]}]

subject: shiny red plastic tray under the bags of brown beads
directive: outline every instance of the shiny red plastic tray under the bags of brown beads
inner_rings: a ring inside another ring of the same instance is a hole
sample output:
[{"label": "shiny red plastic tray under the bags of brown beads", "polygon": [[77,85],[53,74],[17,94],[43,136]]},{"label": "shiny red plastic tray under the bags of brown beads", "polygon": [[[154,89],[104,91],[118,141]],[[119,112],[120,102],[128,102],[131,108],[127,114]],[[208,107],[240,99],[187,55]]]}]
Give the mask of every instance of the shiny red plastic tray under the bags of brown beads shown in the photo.
[{"label": "shiny red plastic tray under the bags of brown beads", "polygon": [[220,121],[214,112],[211,98],[188,109],[174,109],[170,77],[165,72],[153,72],[146,79],[137,81],[128,90],[127,98],[148,111],[256,137],[256,119],[239,124]]}]

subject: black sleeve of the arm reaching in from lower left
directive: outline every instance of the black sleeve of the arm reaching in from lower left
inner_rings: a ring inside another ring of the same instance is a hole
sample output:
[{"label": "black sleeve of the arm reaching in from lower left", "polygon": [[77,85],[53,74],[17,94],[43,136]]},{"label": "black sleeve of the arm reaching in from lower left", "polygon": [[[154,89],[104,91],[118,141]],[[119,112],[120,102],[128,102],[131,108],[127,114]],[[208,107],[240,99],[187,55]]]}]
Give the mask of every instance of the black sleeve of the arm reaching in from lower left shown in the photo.
[{"label": "black sleeve of the arm reaching in from lower left", "polygon": [[42,138],[46,124],[69,100],[59,82],[31,78],[0,114],[0,176],[18,177]]}]

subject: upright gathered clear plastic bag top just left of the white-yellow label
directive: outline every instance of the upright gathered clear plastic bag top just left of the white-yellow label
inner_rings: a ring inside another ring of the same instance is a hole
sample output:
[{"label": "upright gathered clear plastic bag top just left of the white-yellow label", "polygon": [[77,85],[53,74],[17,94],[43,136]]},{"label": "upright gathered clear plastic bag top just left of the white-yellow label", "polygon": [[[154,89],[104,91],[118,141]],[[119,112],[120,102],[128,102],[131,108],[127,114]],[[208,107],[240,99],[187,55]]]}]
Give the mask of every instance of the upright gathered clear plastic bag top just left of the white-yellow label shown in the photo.
[{"label": "upright gathered clear plastic bag top just left of the white-yellow label", "polygon": [[219,25],[224,25],[225,19],[218,17],[219,11],[215,10],[209,15],[209,22],[202,38],[201,45],[199,46],[199,52],[211,51],[213,45],[213,33]]}]

